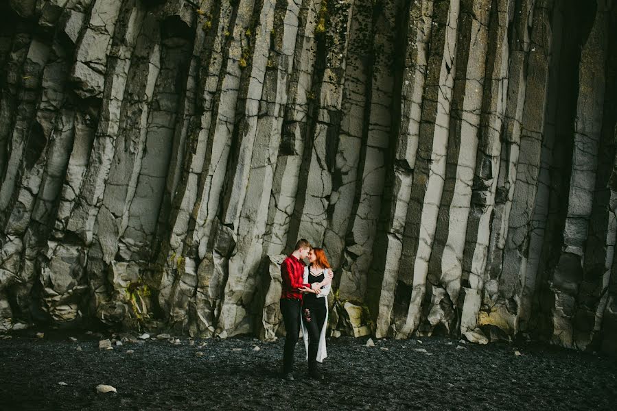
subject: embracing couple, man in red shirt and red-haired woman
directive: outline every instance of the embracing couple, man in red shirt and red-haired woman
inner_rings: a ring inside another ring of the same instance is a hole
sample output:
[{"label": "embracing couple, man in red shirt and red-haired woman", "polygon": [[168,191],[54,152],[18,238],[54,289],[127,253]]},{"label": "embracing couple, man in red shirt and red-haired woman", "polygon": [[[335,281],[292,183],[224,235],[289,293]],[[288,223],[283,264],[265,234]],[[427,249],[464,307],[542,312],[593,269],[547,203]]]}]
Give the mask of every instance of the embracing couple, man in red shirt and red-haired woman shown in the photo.
[{"label": "embracing couple, man in red shirt and red-haired woman", "polygon": [[[309,261],[308,266],[304,259]],[[283,348],[283,378],[294,380],[294,349],[302,328],[309,376],[319,379],[317,362],[326,357],[327,295],[333,277],[325,252],[312,248],[304,238],[298,240],[294,252],[281,264],[281,277],[281,314],[287,334]]]}]

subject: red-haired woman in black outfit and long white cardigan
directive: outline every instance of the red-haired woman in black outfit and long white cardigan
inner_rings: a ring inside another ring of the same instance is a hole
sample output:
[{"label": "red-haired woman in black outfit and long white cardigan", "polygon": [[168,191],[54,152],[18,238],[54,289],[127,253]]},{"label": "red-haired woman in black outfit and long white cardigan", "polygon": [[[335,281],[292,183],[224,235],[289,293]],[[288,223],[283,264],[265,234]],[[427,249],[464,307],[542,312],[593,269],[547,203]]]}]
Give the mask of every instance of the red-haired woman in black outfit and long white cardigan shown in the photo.
[{"label": "red-haired woman in black outfit and long white cardigan", "polygon": [[332,282],[332,270],[321,248],[309,251],[309,266],[304,269],[304,283],[311,284],[302,298],[302,334],[306,348],[309,375],[319,379],[317,362],[326,358],[325,331],[328,323],[327,295]]}]

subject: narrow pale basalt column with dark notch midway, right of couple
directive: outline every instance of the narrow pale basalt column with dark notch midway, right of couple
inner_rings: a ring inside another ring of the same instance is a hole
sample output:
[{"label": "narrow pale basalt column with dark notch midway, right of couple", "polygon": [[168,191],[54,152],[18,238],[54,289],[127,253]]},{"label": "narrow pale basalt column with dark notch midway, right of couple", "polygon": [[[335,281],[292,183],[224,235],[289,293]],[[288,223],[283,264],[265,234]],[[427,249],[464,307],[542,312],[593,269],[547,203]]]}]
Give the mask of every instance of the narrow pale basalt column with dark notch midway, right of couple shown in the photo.
[{"label": "narrow pale basalt column with dark notch midway, right of couple", "polygon": [[[406,16],[406,55],[401,77],[401,121],[397,130],[394,161],[388,171],[390,173],[388,178],[392,180],[391,192],[385,193],[390,201],[389,208],[382,210],[386,227],[377,234],[368,284],[369,308],[377,320],[375,335],[378,338],[387,336],[390,331],[395,289],[397,287],[410,289],[412,285],[402,282],[397,284],[397,276],[418,148],[432,12],[433,1],[413,2]],[[408,303],[404,303],[403,310],[407,310],[407,306]]]}]

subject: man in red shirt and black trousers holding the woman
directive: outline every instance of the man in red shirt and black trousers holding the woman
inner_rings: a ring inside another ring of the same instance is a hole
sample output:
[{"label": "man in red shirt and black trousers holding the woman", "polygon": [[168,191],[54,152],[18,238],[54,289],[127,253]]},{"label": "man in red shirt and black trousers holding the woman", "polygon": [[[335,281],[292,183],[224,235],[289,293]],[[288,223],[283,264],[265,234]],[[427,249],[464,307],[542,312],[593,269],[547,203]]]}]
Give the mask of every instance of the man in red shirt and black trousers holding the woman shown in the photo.
[{"label": "man in red shirt and black trousers holding the woman", "polygon": [[[285,323],[285,348],[283,349],[283,378],[293,381],[294,349],[300,336],[300,310],[302,293],[311,289],[310,284],[303,283],[303,258],[311,250],[310,242],[302,238],[296,242],[296,248],[281,264],[283,287],[281,290],[281,314]],[[316,290],[319,292],[319,290]]]}]

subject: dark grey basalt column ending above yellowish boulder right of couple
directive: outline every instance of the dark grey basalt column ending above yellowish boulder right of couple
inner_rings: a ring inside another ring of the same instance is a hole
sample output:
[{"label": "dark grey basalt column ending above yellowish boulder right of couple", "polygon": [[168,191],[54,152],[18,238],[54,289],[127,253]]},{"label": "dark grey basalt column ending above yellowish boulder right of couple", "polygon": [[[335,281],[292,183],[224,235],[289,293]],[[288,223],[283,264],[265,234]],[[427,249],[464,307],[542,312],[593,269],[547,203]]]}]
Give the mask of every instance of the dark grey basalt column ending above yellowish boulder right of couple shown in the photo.
[{"label": "dark grey basalt column ending above yellowish boulder right of couple", "polygon": [[367,277],[373,259],[373,243],[382,206],[384,182],[388,164],[388,149],[392,134],[395,36],[401,1],[378,2],[373,12],[372,70],[367,92],[364,135],[360,151],[356,197],[341,261],[340,298],[364,303]]}]

